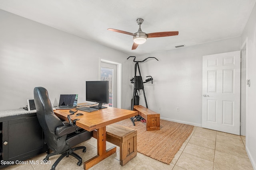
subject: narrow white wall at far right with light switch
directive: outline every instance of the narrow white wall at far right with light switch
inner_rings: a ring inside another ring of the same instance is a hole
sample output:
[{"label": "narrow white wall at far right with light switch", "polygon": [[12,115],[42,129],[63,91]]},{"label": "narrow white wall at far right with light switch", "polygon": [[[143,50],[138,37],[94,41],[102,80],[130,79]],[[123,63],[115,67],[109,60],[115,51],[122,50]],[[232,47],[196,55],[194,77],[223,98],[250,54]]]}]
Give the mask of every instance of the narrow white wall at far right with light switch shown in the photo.
[{"label": "narrow white wall at far right with light switch", "polygon": [[256,170],[256,4],[242,34],[242,43],[247,41],[247,79],[251,86],[247,87],[246,112],[246,151]]}]

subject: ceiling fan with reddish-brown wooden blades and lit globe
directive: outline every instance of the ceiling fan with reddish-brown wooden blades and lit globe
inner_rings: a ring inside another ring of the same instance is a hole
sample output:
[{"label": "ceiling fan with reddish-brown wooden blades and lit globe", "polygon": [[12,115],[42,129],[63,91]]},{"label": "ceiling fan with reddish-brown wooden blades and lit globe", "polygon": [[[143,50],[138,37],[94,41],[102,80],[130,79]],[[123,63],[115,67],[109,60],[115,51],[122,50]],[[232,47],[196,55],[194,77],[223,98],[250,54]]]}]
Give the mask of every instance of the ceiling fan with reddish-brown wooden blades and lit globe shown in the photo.
[{"label": "ceiling fan with reddish-brown wooden blades and lit globe", "polygon": [[121,31],[118,29],[112,29],[109,28],[108,30],[110,31],[115,31],[118,33],[124,33],[124,34],[128,34],[128,35],[132,35],[133,36],[133,45],[132,45],[132,50],[135,50],[139,44],[143,44],[146,42],[147,38],[155,38],[155,37],[168,37],[168,36],[174,36],[174,35],[178,35],[179,31],[167,31],[167,32],[157,32],[157,33],[144,33],[142,32],[140,25],[143,23],[143,19],[142,18],[138,18],[136,20],[136,22],[139,25],[139,29],[136,33],[130,33],[130,32],[126,32],[126,31]]}]

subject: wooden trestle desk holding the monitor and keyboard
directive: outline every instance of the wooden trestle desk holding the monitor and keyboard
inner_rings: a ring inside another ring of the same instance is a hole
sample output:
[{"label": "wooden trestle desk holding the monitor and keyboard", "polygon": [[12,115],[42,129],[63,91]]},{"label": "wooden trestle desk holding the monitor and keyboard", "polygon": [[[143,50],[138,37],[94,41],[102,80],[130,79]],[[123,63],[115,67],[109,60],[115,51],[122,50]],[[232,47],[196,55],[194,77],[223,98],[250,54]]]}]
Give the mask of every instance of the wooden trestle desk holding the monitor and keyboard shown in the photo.
[{"label": "wooden trestle desk holding the monitor and keyboard", "polygon": [[[79,104],[81,105],[81,104]],[[76,111],[76,109],[72,109]],[[54,110],[54,113],[60,117],[68,121],[69,109],[57,109]],[[118,121],[128,119],[135,115],[138,115],[137,111],[126,110],[126,109],[118,109],[115,107],[108,107],[105,109],[99,109],[98,111],[94,112],[86,112],[78,110],[77,113],[83,113],[82,116],[71,115],[70,118],[72,119],[80,119],[76,121],[76,125],[87,131],[93,131],[97,129],[97,150],[98,154],[84,162],[84,169],[87,170],[92,166],[96,165],[101,160],[107,158],[111,154],[116,152],[116,147],[112,147],[106,150],[106,126],[112,123],[116,123]],[[76,114],[76,113],[75,113]]]}]

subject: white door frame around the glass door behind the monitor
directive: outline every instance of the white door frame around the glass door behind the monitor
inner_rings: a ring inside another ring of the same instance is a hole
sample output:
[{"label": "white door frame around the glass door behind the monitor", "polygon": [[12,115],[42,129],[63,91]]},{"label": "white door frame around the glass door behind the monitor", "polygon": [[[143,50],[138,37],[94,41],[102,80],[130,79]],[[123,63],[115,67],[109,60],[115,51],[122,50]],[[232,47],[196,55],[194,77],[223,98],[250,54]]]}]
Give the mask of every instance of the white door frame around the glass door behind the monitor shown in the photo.
[{"label": "white door frame around the glass door behind the monitor", "polygon": [[114,64],[116,65],[116,108],[121,108],[122,107],[122,64],[117,63],[114,61],[109,61],[106,59],[99,59],[99,79],[100,79],[100,67],[101,67],[101,62],[103,63],[109,63],[109,64]]}]

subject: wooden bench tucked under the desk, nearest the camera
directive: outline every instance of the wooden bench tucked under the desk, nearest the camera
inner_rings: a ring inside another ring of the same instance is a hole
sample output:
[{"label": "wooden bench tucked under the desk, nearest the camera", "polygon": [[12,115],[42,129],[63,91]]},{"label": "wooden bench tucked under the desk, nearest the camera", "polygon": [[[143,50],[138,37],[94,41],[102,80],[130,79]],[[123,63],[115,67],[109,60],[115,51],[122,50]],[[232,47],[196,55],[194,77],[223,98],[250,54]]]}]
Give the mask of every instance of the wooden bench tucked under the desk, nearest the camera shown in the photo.
[{"label": "wooden bench tucked under the desk, nearest the camera", "polygon": [[[97,139],[97,131],[93,131]],[[122,125],[106,126],[106,140],[120,147],[120,165],[124,166],[137,155],[137,130]]]}]

